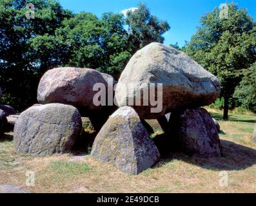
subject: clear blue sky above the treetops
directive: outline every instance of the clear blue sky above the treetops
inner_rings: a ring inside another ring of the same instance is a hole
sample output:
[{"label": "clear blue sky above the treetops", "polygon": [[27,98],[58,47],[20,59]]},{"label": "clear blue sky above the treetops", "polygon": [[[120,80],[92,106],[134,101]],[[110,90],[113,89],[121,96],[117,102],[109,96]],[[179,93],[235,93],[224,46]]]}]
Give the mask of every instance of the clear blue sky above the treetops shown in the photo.
[{"label": "clear blue sky above the treetops", "polygon": [[[104,12],[121,12],[126,8],[136,7],[140,2],[146,3],[153,15],[166,20],[171,26],[164,34],[165,44],[183,46],[190,41],[199,26],[199,19],[206,12],[212,11],[226,0],[59,0],[63,8],[73,12],[92,12],[101,17]],[[228,2],[231,2],[229,0]],[[255,0],[235,0],[239,8],[247,8],[248,13],[256,19]]]}]

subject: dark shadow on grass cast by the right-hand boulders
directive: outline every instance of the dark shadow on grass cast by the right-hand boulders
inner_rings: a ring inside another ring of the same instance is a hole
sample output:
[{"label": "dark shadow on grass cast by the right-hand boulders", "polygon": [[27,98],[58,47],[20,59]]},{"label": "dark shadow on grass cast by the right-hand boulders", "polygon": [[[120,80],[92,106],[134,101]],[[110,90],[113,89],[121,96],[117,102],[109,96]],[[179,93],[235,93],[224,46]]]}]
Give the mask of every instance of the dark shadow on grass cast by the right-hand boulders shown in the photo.
[{"label": "dark shadow on grass cast by the right-hand boulders", "polygon": [[164,135],[159,135],[154,140],[161,153],[161,161],[155,167],[171,162],[172,160],[182,160],[193,165],[197,165],[204,169],[213,171],[239,171],[251,167],[256,164],[256,150],[244,147],[230,141],[221,140],[222,157],[202,158],[200,156],[188,156],[177,151],[166,150],[166,142]]}]

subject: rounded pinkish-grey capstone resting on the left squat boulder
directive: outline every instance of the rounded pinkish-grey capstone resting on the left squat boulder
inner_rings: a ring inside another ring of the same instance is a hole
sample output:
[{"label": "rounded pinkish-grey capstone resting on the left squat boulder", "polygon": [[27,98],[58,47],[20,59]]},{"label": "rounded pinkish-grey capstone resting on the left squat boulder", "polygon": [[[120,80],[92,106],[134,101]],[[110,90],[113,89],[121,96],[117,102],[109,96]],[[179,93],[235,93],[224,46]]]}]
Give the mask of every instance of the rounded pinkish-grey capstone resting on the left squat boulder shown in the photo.
[{"label": "rounded pinkish-grey capstone resting on the left squat boulder", "polygon": [[79,109],[97,111],[103,106],[95,106],[93,91],[96,83],[103,83],[108,91],[108,79],[112,76],[87,68],[55,68],[44,73],[37,89],[37,100],[41,104],[63,103]]}]

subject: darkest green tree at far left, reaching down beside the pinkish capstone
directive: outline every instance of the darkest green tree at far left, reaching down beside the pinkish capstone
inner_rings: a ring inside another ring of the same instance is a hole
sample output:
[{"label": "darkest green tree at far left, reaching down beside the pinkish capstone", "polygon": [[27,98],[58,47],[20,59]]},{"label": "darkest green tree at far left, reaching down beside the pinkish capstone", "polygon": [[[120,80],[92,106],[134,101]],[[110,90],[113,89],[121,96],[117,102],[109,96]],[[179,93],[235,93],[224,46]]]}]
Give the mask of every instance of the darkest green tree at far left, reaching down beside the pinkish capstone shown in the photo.
[{"label": "darkest green tree at far left, reaching down beside the pinkish capstone", "polygon": [[[35,19],[27,19],[26,5],[35,5]],[[0,1],[0,85],[3,104],[21,111],[36,102],[36,90],[41,70],[57,64],[58,58],[48,51],[51,41],[38,50],[33,44],[42,37],[53,41],[55,29],[71,12],[52,0]],[[48,52],[48,53],[46,53]]]}]

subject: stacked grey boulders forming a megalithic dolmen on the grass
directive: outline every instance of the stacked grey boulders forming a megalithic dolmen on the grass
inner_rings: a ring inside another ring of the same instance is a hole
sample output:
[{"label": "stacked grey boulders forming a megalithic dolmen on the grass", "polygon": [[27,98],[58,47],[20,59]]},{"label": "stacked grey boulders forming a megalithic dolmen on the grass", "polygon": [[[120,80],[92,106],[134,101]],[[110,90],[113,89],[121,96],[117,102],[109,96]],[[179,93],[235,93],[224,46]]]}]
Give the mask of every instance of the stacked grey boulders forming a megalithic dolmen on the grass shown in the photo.
[{"label": "stacked grey boulders forming a megalithic dolmen on the grass", "polygon": [[[88,117],[97,131],[91,155],[124,173],[139,174],[161,158],[148,119],[157,119],[170,144],[184,153],[221,156],[215,122],[200,108],[219,94],[217,77],[160,43],[135,53],[118,82],[92,69],[55,68],[39,82],[40,104],[21,113],[15,124],[15,151],[70,153],[81,135],[81,117]],[[104,97],[106,104],[95,104],[95,97]]]}]

